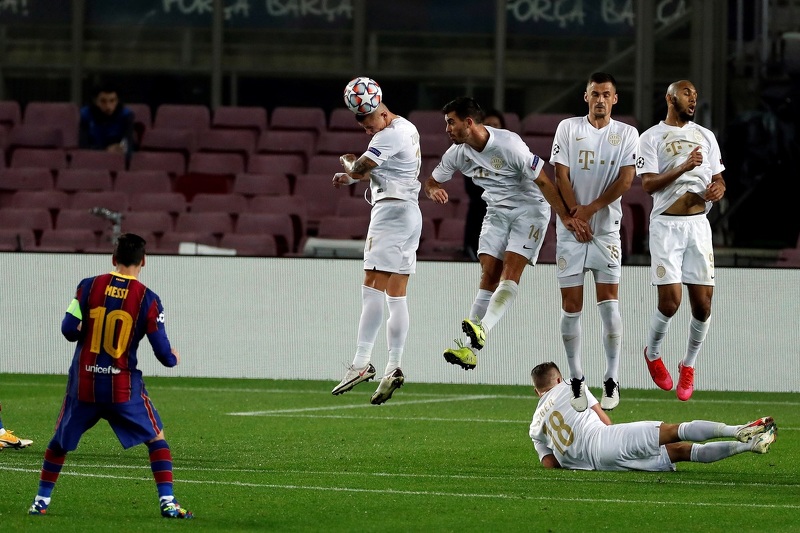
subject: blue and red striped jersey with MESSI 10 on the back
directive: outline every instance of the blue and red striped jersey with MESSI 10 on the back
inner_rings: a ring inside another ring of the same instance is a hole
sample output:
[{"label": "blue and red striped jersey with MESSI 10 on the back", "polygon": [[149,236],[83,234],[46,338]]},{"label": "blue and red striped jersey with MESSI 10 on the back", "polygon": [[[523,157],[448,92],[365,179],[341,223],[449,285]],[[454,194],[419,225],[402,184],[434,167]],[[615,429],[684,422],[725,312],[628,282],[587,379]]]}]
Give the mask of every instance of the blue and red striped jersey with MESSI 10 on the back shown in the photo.
[{"label": "blue and red striped jersey with MESSI 10 on the back", "polygon": [[82,280],[61,333],[78,342],[67,394],[82,402],[127,402],[145,392],[136,368],[136,351],[145,335],[161,364],[177,364],[161,300],[132,276],[111,272]]}]

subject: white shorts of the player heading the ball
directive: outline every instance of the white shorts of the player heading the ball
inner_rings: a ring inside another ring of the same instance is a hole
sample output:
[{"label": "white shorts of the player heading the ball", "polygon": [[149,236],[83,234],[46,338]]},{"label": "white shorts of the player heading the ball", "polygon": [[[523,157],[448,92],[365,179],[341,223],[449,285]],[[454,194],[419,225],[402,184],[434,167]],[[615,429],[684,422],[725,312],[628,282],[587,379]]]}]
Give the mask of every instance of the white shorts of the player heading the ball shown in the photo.
[{"label": "white shorts of the player heading the ball", "polygon": [[364,270],[413,274],[422,232],[419,205],[384,199],[372,206],[364,244]]}]

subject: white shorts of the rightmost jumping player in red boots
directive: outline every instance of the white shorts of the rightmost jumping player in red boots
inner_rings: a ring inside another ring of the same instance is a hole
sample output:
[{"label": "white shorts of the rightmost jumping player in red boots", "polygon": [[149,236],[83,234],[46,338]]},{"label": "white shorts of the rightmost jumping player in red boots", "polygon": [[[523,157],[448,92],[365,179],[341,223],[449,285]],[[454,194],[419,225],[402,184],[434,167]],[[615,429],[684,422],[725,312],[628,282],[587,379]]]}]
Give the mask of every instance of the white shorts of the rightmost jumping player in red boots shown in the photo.
[{"label": "white shorts of the rightmost jumping player in red boots", "polygon": [[650,221],[650,275],[653,285],[714,286],[711,224],[704,214],[659,215]]}]

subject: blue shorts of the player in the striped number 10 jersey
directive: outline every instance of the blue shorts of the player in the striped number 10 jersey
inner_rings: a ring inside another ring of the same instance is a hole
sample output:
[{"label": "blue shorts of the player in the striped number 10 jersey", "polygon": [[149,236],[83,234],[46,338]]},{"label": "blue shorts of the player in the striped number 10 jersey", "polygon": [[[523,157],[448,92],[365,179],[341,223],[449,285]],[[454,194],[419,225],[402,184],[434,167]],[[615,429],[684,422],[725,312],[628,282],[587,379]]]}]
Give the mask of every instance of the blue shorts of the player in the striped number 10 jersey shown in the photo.
[{"label": "blue shorts of the player in the striped number 10 jersey", "polygon": [[125,403],[80,402],[67,396],[56,422],[53,439],[66,451],[78,447],[81,436],[105,419],[126,450],[153,440],[163,429],[161,417],[146,394]]}]

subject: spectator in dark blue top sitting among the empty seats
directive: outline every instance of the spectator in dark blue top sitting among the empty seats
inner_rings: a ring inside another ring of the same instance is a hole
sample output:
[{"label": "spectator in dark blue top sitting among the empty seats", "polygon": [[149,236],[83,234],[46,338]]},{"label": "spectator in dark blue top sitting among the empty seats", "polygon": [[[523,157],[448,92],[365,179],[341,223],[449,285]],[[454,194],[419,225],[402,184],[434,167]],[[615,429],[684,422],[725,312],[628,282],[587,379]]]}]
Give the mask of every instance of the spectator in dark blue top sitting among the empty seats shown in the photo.
[{"label": "spectator in dark blue top sitting among the empty seats", "polygon": [[122,105],[114,85],[104,82],[92,90],[92,103],[81,109],[78,144],[130,157],[134,149],[133,112]]}]

